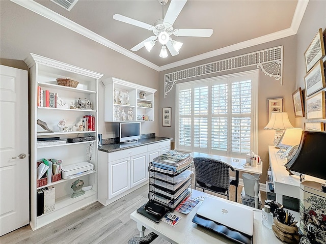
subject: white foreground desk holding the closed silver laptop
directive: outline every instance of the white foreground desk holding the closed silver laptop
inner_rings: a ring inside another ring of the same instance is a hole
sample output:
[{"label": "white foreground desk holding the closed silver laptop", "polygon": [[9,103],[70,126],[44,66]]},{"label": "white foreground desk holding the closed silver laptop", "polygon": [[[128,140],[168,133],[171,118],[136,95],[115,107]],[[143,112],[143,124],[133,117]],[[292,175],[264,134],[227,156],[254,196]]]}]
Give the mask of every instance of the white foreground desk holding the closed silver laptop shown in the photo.
[{"label": "white foreground desk holding the closed silver laptop", "polygon": [[[213,198],[218,198],[216,196],[209,195],[204,192],[200,192],[197,190],[192,190],[192,197],[200,197],[200,196],[209,196]],[[242,207],[247,207],[254,210],[255,219],[254,219],[254,234],[253,234],[253,243],[254,244],[265,244],[265,243],[283,243],[280,241],[267,227],[265,227],[261,223],[261,210],[252,208],[246,205],[242,205],[239,203],[235,203],[233,201],[229,201],[223,199],[225,201],[230,202],[231,204],[241,205]],[[205,243],[234,243],[234,241],[227,239],[217,233],[209,231],[203,227],[197,226],[197,224],[192,222],[199,206],[202,201],[196,205],[196,207],[189,212],[187,215],[180,214],[175,211],[175,214],[181,216],[179,223],[176,226],[170,226],[167,223],[159,222],[155,223],[146,217],[138,214],[137,211],[132,212],[130,218],[137,222],[137,228],[140,231],[141,236],[144,236],[144,231],[147,228],[150,231],[153,231],[157,235],[161,236],[165,240],[171,243],[195,243],[195,244],[205,244]],[[241,214],[239,214],[239,218],[241,218]],[[237,221],[237,220],[234,220]]]}]

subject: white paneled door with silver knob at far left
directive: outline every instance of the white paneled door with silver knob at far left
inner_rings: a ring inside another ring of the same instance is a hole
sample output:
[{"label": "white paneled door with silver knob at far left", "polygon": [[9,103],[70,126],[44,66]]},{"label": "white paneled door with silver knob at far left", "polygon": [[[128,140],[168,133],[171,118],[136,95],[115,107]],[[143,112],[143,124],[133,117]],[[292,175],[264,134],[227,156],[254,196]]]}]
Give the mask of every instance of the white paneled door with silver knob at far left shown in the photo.
[{"label": "white paneled door with silver knob at far left", "polygon": [[0,235],[4,235],[30,221],[26,70],[0,65],[0,110]]}]

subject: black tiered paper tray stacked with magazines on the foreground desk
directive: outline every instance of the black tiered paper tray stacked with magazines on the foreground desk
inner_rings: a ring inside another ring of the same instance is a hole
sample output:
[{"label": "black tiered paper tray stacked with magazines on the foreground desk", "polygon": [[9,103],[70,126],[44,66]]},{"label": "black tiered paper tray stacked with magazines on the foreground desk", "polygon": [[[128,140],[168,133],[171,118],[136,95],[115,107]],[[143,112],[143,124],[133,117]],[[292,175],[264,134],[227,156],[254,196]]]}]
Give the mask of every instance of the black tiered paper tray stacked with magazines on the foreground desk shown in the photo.
[{"label": "black tiered paper tray stacked with magazines on the foreground desk", "polygon": [[191,194],[193,158],[189,154],[170,150],[150,163],[150,195],[156,202],[174,209]]}]

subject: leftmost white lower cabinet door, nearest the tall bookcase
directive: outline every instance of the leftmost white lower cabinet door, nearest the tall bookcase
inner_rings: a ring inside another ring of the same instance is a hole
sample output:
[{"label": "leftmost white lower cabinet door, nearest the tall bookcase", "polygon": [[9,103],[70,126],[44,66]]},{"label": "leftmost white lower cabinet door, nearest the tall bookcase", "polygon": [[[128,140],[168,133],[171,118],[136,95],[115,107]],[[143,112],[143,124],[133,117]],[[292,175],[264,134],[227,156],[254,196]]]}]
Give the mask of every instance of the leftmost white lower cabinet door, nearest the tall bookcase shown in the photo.
[{"label": "leftmost white lower cabinet door, nearest the tall bookcase", "polygon": [[129,161],[130,158],[124,158],[108,163],[108,198],[111,199],[128,189],[130,189],[129,180]]}]

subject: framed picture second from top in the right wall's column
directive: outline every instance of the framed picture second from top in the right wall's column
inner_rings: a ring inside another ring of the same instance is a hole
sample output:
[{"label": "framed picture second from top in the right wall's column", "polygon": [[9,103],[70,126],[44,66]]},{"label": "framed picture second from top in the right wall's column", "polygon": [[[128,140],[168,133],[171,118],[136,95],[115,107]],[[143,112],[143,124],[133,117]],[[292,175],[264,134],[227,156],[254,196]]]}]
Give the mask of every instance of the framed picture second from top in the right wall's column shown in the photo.
[{"label": "framed picture second from top in the right wall's column", "polygon": [[325,87],[325,74],[322,60],[319,60],[308,74],[306,74],[304,80],[307,96],[310,96]]}]

